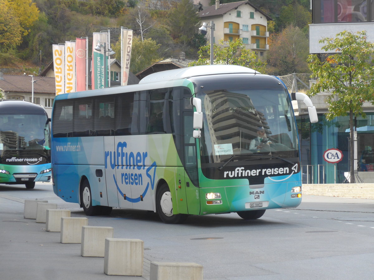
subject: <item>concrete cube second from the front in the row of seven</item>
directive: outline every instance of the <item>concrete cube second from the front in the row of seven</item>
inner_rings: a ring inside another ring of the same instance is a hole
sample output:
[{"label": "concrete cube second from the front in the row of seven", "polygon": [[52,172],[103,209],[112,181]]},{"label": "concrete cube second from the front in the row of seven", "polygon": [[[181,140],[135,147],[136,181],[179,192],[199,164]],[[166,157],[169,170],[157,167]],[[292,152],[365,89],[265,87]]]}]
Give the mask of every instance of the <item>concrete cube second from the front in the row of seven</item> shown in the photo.
[{"label": "concrete cube second from the front in the row of seven", "polygon": [[106,238],[104,273],[107,275],[141,276],[144,241]]}]

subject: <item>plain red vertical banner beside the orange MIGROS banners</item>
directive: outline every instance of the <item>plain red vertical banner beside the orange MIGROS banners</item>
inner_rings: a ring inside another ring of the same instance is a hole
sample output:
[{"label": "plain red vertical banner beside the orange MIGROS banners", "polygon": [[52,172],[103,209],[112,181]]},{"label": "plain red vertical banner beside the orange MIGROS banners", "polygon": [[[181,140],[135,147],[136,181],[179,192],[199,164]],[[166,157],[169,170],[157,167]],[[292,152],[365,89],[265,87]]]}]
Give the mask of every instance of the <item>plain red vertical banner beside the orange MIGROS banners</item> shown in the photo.
[{"label": "plain red vertical banner beside the orange MIGROS banners", "polygon": [[86,75],[87,75],[87,40],[76,38],[75,46],[75,65],[77,77],[77,91],[86,90]]}]

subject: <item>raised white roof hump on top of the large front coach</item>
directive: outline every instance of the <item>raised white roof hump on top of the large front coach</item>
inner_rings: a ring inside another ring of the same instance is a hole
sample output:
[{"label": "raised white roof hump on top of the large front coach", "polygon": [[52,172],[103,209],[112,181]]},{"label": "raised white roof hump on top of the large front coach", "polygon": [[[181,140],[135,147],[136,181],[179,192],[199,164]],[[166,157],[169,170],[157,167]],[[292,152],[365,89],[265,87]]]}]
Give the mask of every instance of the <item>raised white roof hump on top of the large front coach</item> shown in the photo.
[{"label": "raised white roof hump on top of the large front coach", "polygon": [[166,70],[156,72],[142,78],[139,84],[156,83],[160,81],[171,81],[196,76],[215,75],[215,74],[236,74],[250,73],[260,74],[251,68],[239,65],[215,64],[215,65],[199,65],[180,69]]}]

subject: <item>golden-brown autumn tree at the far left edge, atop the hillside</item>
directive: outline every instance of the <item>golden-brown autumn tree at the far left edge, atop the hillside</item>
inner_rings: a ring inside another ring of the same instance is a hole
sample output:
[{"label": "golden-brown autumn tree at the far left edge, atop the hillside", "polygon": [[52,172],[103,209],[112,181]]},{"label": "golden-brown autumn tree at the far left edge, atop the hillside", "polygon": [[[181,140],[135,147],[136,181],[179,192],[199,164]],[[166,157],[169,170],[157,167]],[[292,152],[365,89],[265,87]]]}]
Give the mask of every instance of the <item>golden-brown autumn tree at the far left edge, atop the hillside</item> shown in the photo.
[{"label": "golden-brown autumn tree at the far left edge, atop the hillside", "polygon": [[19,46],[22,42],[22,28],[13,9],[4,0],[0,0],[0,51]]}]

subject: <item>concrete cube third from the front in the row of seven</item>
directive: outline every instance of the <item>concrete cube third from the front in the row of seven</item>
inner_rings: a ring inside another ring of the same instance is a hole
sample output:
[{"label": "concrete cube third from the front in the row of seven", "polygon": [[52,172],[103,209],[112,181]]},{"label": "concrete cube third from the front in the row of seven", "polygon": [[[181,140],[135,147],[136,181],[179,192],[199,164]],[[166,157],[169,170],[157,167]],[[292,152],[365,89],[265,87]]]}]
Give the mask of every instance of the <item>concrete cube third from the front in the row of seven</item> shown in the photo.
[{"label": "concrete cube third from the front in the row of seven", "polygon": [[82,245],[80,255],[104,257],[105,238],[113,238],[113,227],[82,227]]}]

